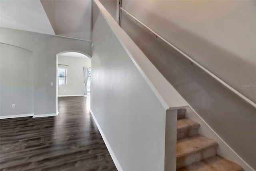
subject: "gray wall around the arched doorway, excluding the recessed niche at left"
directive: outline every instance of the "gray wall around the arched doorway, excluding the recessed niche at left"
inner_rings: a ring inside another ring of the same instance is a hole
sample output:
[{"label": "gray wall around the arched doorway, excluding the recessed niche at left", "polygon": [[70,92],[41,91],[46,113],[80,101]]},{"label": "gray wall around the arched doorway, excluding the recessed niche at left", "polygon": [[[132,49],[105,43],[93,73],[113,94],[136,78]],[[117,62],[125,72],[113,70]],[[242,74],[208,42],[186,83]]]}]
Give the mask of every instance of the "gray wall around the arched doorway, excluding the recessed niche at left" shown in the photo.
[{"label": "gray wall around the arched doorway, excluding the recessed niche at left", "polygon": [[[34,72],[34,114],[56,113],[56,55],[71,50],[91,56],[91,42],[8,28],[0,29],[0,42],[33,51],[34,70],[30,72]],[[50,82],[54,82],[54,86],[50,86]]]}]

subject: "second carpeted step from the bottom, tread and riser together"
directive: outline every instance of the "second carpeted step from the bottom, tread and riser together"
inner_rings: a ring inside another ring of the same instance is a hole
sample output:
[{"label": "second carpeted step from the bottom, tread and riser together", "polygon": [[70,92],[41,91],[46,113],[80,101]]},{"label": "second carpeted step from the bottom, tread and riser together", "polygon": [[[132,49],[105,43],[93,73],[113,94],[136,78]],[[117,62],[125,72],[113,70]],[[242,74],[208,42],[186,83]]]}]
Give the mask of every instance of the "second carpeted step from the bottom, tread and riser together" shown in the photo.
[{"label": "second carpeted step from the bottom, tread and riser together", "polygon": [[177,140],[177,169],[216,155],[218,143],[202,135]]}]

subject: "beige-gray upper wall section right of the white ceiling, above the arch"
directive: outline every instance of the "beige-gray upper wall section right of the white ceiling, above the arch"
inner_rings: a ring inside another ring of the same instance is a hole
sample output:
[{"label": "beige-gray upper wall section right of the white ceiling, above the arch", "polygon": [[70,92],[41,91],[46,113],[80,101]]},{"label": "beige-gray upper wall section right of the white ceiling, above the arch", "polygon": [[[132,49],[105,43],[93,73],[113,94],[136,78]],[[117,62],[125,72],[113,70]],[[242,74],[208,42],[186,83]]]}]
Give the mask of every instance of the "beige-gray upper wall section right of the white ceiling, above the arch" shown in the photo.
[{"label": "beige-gray upper wall section right of the white ceiling, above the arch", "polygon": [[56,35],[92,40],[91,0],[40,0]]}]

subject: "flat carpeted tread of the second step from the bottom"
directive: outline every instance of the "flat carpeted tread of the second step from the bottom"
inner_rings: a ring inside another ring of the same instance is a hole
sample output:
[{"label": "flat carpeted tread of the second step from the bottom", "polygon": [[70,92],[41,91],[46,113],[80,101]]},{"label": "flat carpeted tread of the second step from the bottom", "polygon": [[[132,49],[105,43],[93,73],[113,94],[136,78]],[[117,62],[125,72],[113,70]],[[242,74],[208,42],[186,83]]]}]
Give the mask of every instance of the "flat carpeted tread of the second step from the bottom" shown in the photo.
[{"label": "flat carpeted tread of the second step from the bottom", "polygon": [[179,139],[177,140],[177,159],[217,146],[218,143],[216,141],[199,134]]}]

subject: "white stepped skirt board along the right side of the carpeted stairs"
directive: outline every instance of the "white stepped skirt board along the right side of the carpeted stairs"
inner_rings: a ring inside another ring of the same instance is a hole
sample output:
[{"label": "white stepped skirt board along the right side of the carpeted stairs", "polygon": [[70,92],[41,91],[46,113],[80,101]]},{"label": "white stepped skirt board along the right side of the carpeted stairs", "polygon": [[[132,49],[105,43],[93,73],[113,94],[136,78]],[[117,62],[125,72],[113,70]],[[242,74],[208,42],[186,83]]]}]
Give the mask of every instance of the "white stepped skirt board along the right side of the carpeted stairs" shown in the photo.
[{"label": "white stepped skirt board along the right side of the carpeted stairs", "polygon": [[186,107],[186,117],[200,123],[199,134],[218,143],[217,154],[242,166],[245,171],[254,171],[191,107]]}]

